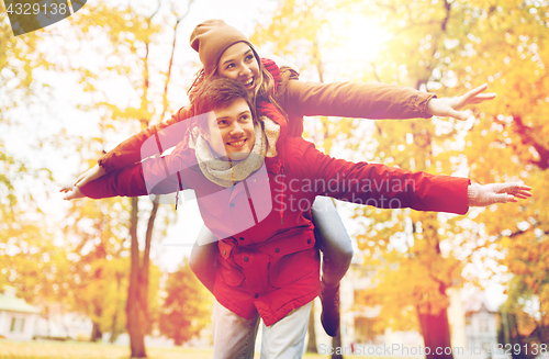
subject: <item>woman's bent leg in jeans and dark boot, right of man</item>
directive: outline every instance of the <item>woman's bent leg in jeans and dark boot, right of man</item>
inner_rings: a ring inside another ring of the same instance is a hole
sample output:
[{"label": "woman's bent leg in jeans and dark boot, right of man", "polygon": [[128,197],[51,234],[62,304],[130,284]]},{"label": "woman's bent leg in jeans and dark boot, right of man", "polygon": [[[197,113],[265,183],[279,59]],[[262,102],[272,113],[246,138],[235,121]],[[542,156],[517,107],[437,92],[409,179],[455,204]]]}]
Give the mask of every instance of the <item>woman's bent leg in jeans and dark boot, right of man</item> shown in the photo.
[{"label": "woman's bent leg in jeans and dark boot, right of man", "polygon": [[352,244],[330,198],[317,197],[311,209],[322,250],[321,322],[329,336],[339,330],[339,281],[349,269]]}]

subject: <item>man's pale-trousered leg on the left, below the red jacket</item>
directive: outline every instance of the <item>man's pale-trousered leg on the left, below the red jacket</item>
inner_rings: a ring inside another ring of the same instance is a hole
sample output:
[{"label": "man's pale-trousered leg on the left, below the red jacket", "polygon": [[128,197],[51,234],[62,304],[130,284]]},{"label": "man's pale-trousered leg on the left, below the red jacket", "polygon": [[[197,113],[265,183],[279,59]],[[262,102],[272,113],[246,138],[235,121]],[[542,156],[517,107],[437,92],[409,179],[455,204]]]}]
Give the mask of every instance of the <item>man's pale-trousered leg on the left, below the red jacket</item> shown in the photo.
[{"label": "man's pale-trousered leg on the left, below the red jacket", "polygon": [[215,301],[212,316],[213,358],[254,359],[258,325],[259,314],[247,321]]}]

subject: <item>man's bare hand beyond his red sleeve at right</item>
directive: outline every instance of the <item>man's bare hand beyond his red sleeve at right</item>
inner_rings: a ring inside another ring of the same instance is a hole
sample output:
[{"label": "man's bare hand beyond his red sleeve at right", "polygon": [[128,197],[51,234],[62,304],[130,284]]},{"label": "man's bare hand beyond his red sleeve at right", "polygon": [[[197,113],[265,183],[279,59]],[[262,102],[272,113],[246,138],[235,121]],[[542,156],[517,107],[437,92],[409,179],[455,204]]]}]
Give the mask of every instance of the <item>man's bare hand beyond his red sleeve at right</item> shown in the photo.
[{"label": "man's bare hand beyond his red sleeve at right", "polygon": [[531,188],[520,183],[474,183],[467,189],[469,206],[486,206],[494,203],[517,202],[531,197]]}]

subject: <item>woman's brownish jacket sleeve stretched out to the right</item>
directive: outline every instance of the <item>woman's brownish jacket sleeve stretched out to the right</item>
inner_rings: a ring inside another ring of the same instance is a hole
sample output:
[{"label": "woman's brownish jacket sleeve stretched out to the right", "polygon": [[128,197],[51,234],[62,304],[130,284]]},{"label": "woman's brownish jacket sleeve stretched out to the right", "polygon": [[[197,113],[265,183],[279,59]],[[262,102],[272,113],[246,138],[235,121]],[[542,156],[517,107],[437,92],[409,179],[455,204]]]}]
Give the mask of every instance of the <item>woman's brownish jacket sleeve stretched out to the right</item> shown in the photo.
[{"label": "woman's brownish jacket sleeve stretched out to the right", "polygon": [[371,120],[430,117],[435,94],[383,83],[289,81],[284,110],[290,116],[341,116]]}]

